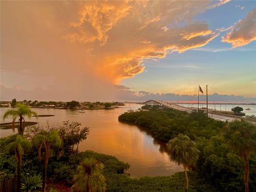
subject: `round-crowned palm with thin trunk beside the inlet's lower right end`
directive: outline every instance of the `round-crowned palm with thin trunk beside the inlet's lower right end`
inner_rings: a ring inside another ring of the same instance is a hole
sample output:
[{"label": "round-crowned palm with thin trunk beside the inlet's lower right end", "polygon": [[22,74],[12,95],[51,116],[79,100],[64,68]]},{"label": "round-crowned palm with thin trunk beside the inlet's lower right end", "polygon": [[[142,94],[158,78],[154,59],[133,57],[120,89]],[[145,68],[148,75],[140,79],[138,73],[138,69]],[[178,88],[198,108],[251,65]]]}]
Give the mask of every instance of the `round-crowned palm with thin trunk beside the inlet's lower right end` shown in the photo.
[{"label": "round-crowned palm with thin trunk beside the inlet's lower right end", "polygon": [[178,137],[171,139],[167,143],[167,148],[171,152],[171,160],[183,165],[185,177],[187,181],[186,191],[188,190],[188,174],[189,166],[194,165],[199,156],[199,150],[196,148],[196,143],[191,141],[187,135],[179,134]]}]

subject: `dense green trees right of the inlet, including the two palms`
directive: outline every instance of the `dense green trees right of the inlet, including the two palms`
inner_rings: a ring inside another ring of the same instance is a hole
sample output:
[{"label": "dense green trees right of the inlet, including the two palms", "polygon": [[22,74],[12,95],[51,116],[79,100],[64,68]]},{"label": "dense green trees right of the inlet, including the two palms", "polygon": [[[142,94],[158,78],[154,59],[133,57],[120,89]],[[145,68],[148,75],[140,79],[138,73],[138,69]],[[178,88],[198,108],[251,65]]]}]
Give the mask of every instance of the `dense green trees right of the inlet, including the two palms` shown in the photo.
[{"label": "dense green trees right of the inlet, including the two palms", "polygon": [[167,143],[170,159],[184,167],[186,190],[190,170],[207,178],[219,191],[256,191],[254,124],[244,120],[215,121],[202,111],[188,114],[174,109],[142,108],[149,111],[124,113],[119,121],[146,127],[154,138]]}]

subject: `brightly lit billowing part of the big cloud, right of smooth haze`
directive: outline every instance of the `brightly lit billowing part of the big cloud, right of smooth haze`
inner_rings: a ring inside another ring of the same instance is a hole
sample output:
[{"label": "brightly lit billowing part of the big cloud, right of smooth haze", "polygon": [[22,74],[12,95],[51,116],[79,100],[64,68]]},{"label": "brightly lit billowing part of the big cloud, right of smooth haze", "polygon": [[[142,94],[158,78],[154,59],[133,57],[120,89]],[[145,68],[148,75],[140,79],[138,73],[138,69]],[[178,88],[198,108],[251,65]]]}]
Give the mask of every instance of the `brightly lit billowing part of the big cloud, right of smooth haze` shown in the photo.
[{"label": "brightly lit billowing part of the big cloud, right of smooth haze", "polygon": [[[164,58],[170,51],[201,47],[218,34],[206,23],[189,21],[209,2],[86,2],[79,22],[71,22],[71,42],[94,43],[97,73],[118,83],[142,73],[144,59]],[[186,20],[180,26],[179,21]],[[99,43],[97,43],[97,41]]]}]

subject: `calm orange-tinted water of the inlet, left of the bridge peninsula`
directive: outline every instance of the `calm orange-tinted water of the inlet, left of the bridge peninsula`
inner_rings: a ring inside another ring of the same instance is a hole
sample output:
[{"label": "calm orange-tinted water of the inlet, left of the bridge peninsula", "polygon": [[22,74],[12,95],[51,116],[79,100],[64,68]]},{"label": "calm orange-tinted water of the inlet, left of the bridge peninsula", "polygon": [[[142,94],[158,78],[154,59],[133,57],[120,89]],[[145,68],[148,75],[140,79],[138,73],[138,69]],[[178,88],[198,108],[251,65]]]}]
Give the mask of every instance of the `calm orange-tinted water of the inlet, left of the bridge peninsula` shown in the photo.
[{"label": "calm orange-tinted water of the inlet, left of the bridge peninsula", "polygon": [[[50,124],[61,124],[62,121],[81,122],[90,127],[90,134],[79,144],[79,151],[93,150],[98,153],[113,155],[120,161],[131,165],[127,171],[133,178],[145,175],[171,175],[182,171],[183,168],[169,160],[165,146],[154,140],[138,126],[118,122],[118,116],[129,108],[138,109],[142,105],[127,104],[110,110],[78,110],[33,108],[38,115],[55,115],[52,117],[32,117],[30,121],[38,121],[41,125],[49,121]],[[1,123],[3,114],[10,108],[0,108]],[[28,120],[27,120],[28,121]],[[11,122],[11,118],[4,122]],[[12,134],[11,130],[1,130],[1,137]]]}]

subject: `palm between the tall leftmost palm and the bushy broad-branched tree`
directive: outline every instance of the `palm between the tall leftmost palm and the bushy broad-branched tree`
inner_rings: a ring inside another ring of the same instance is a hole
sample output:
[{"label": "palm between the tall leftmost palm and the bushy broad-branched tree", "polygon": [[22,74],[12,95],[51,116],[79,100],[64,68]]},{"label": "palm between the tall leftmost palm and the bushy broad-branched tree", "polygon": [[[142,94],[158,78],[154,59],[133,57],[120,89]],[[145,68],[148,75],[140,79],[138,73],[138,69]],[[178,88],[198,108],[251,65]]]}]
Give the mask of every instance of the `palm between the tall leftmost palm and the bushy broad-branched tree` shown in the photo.
[{"label": "palm between the tall leftmost palm and the bushy broad-branched tree", "polygon": [[34,137],[34,143],[38,146],[38,156],[39,159],[42,159],[42,150],[44,151],[43,162],[44,162],[44,170],[43,170],[43,191],[46,190],[46,173],[47,173],[47,165],[49,159],[51,157],[51,146],[60,146],[61,139],[59,137],[59,133],[56,130],[45,131],[42,130]]}]

